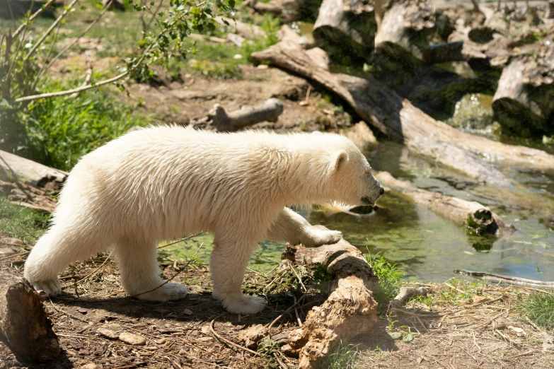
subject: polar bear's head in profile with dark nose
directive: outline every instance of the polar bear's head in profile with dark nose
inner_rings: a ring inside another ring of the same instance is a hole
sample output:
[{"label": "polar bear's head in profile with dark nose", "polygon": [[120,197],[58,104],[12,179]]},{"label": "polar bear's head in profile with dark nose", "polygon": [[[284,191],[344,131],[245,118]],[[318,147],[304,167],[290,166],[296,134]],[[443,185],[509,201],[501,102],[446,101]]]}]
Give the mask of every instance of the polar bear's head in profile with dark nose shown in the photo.
[{"label": "polar bear's head in profile with dark nose", "polygon": [[340,143],[328,151],[327,191],[335,201],[343,204],[373,205],[385,192],[371,174],[371,166],[365,156],[349,139],[340,138]]}]

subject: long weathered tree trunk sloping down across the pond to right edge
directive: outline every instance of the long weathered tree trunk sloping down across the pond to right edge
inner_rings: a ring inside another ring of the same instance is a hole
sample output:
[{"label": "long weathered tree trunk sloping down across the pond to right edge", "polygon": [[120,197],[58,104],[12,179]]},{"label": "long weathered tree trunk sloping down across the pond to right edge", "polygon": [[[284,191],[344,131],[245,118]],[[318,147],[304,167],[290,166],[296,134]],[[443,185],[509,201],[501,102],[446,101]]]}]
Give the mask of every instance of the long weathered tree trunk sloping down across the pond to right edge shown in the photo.
[{"label": "long weathered tree trunk sloping down across the pond to right edge", "polygon": [[[533,148],[491,141],[438,122],[371,76],[360,78],[330,72],[328,66],[322,63],[322,53],[325,54],[319,48],[304,51],[297,40],[286,39],[262,52],[253,53],[252,59],[270,61],[320,83],[349,103],[371,127],[394,141],[409,144],[415,139],[427,137],[446,144],[443,148],[458,146],[487,158],[487,161],[502,160],[504,165],[515,168],[554,171],[554,156]],[[312,57],[314,54],[318,57]],[[459,165],[451,163],[449,166],[456,168]]]}]

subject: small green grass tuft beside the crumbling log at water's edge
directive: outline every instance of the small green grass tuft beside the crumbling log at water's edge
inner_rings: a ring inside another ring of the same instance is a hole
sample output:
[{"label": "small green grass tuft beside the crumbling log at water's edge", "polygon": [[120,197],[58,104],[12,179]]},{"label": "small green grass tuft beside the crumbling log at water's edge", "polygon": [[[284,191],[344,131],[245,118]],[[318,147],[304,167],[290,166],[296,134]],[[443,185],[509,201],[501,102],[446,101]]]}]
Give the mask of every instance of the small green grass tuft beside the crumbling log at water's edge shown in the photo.
[{"label": "small green grass tuft beside the crumbling log at water's edge", "polygon": [[367,262],[375,271],[379,279],[379,286],[374,291],[374,298],[381,309],[386,309],[388,303],[395,298],[402,286],[400,277],[402,273],[396,266],[388,262],[384,257],[366,257]]}]

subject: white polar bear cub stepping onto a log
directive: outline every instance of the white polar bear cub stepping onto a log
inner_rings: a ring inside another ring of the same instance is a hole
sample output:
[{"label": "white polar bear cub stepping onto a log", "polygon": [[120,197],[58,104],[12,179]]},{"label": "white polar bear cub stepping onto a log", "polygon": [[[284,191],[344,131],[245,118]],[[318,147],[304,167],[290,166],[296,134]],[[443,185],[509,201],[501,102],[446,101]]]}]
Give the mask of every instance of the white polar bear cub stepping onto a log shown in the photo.
[{"label": "white polar bear cub stepping onto a log", "polygon": [[141,129],[88,153],[71,170],[25,278],[56,295],[60,271],[112,247],[129,295],[178,300],[187,289],[164,284],[156,242],[209,231],[214,298],[229,312],[256,313],[265,299],[243,295],[241,284],[258,242],[313,247],[342,237],[285,206],[373,204],[380,194],[366,158],[337,134]]}]

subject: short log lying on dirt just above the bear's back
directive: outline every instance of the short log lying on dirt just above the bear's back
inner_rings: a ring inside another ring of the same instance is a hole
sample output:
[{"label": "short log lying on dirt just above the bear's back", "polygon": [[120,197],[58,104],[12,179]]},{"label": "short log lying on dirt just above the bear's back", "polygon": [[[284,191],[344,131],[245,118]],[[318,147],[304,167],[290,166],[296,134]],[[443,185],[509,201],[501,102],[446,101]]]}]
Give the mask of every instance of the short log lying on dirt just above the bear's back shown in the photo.
[{"label": "short log lying on dirt just above the bear's back", "polygon": [[277,122],[283,112],[283,104],[276,98],[266,100],[262,105],[242,107],[234,112],[226,112],[219,104],[214,105],[208,116],[192,119],[192,126],[217,131],[238,131],[238,129],[260,122]]}]

